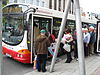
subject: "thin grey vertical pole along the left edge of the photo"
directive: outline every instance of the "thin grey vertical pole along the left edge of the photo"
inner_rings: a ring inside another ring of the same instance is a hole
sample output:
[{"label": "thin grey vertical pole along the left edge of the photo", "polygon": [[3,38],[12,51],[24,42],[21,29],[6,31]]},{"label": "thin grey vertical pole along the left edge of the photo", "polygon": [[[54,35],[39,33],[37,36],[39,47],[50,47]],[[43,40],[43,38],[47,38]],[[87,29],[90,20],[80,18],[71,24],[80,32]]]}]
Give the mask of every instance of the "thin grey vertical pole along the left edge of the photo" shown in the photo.
[{"label": "thin grey vertical pole along the left edge of the photo", "polygon": [[0,0],[0,75],[3,75],[3,56],[2,56],[2,0]]}]

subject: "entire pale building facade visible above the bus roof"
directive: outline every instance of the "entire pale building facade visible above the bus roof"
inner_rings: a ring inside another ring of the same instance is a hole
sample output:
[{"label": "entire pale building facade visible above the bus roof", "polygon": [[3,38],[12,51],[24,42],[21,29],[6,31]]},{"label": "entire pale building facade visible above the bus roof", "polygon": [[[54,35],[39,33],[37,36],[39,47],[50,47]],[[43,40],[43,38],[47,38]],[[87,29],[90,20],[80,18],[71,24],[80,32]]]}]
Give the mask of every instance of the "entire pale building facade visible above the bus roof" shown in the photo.
[{"label": "entire pale building facade visible above the bus roof", "polygon": [[[9,3],[29,3],[64,12],[67,0],[9,0]],[[74,14],[74,3],[71,2],[69,13]]]}]

